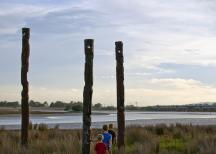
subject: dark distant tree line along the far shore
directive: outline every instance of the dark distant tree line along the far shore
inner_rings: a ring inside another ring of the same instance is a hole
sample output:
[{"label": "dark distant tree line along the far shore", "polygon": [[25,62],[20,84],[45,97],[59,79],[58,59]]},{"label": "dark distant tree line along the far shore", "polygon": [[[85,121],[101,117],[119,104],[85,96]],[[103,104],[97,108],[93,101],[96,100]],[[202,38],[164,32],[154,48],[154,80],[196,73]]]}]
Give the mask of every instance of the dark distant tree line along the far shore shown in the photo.
[{"label": "dark distant tree line along the far shore", "polygon": [[[83,103],[80,101],[63,102],[56,101],[50,104],[38,101],[29,101],[30,107],[50,107],[50,108],[62,108],[65,111],[76,111],[81,112],[83,110]],[[0,101],[0,107],[20,107],[18,101]],[[104,106],[101,103],[96,103],[92,106],[92,110],[116,110],[115,106]],[[126,105],[125,110],[127,111],[181,111],[181,112],[216,112],[216,103],[200,103],[200,104],[189,104],[189,105],[155,105],[139,107],[135,105]]]}]

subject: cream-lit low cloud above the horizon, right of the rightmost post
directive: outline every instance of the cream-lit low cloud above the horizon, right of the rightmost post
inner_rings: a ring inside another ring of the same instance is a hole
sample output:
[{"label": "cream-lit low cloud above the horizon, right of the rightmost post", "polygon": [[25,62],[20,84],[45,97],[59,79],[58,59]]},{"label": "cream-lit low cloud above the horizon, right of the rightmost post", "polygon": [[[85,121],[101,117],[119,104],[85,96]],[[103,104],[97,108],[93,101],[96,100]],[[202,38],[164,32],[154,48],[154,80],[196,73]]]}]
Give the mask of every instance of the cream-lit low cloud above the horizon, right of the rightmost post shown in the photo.
[{"label": "cream-lit low cloud above the horizon, right of the rightmost post", "polygon": [[[214,102],[216,87],[193,79],[150,79],[142,88],[127,88],[126,101],[140,106]],[[134,99],[136,98],[136,99]]]}]

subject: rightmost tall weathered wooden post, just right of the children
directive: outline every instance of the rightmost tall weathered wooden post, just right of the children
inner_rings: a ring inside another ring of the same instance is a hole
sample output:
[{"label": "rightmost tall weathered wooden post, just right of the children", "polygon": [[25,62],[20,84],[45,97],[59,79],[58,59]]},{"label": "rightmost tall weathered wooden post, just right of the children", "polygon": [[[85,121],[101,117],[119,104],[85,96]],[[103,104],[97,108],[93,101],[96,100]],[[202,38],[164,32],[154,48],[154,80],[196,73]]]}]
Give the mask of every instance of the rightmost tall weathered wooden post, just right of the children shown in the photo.
[{"label": "rightmost tall weathered wooden post, just right of the children", "polygon": [[124,58],[123,43],[115,42],[116,53],[116,82],[117,82],[117,119],[118,119],[118,149],[124,153],[124,136],[125,136],[125,107],[124,107]]}]

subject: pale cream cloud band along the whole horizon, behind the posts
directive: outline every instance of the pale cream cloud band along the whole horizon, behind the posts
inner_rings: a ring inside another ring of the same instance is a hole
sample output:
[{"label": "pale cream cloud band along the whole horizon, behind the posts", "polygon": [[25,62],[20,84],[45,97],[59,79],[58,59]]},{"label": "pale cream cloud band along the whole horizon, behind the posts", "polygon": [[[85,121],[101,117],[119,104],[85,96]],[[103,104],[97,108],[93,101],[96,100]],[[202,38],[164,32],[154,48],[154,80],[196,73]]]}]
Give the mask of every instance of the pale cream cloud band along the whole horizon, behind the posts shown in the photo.
[{"label": "pale cream cloud band along the whole horizon, behind the posts", "polygon": [[[213,102],[216,100],[216,86],[204,84],[193,79],[166,78],[143,80],[140,87],[127,87],[125,89],[125,104],[139,106],[172,105],[199,102]],[[3,86],[0,88],[1,100],[20,100],[21,87]],[[82,101],[83,89],[53,88],[31,86],[29,98],[37,101],[71,100]],[[116,105],[115,87],[93,87],[93,103]]]}]

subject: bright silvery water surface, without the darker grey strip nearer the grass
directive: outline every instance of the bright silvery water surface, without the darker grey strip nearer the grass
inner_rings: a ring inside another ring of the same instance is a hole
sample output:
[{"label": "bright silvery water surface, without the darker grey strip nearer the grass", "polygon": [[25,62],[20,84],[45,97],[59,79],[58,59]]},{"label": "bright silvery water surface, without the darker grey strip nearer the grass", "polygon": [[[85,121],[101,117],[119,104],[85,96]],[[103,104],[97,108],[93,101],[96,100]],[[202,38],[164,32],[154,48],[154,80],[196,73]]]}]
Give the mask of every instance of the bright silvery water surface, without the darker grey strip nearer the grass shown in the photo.
[{"label": "bright silvery water surface, without the darker grey strip nearer the grass", "polygon": [[[139,120],[167,120],[167,119],[216,119],[216,112],[126,112],[126,121]],[[62,115],[33,115],[30,116],[32,123],[45,124],[73,124],[82,123],[82,114]],[[117,121],[116,113],[109,112],[105,115],[92,115],[92,122]],[[20,116],[0,116],[0,126],[20,125]]]}]

